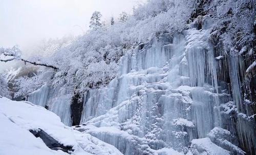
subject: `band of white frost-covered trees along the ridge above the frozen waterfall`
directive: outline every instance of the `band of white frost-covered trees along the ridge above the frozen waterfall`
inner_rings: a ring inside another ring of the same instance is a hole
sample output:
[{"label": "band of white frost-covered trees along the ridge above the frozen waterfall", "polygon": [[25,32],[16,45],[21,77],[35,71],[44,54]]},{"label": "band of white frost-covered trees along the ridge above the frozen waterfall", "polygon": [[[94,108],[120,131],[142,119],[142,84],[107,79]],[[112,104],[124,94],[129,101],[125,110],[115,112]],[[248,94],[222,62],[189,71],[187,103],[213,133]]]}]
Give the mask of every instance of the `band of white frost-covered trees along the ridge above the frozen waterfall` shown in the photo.
[{"label": "band of white frost-covered trees along the ridge above the frozen waterfall", "polygon": [[[164,0],[159,1],[164,2]],[[36,72],[34,74],[36,77],[23,76],[19,78],[16,96],[25,96],[45,82],[48,82],[53,87],[67,85],[71,89],[78,85],[76,87],[76,89],[79,89],[78,91],[108,84],[118,76],[117,62],[121,56],[125,52],[129,52],[130,49],[135,48],[138,42],[154,38],[157,32],[172,32],[176,30],[176,27],[179,28],[178,30],[184,27],[190,12],[189,9],[183,9],[189,7],[182,2],[177,1],[177,4],[172,5],[167,12],[153,16],[152,13],[159,10],[163,3],[157,3],[156,0],[152,0],[146,6],[137,8],[134,16],[127,18],[127,13],[122,13],[122,24],[114,24],[104,29],[98,29],[102,27],[102,20],[100,20],[102,16],[100,12],[95,12],[92,16],[90,27],[92,29],[96,28],[97,31],[90,31],[76,38],[69,46],[65,47],[58,46],[59,43],[46,43],[42,51],[45,49],[53,51],[53,53],[50,52],[51,57],[47,59],[29,58],[31,62],[40,62],[41,65],[47,64],[42,65],[46,67],[51,65],[52,67],[57,67],[57,70],[47,68]],[[184,2],[186,1],[184,0]],[[156,7],[155,4],[159,4],[159,7]],[[182,9],[177,9],[176,6]],[[20,57],[18,56],[17,59],[20,60]],[[38,61],[38,59],[40,60]],[[44,76],[44,73],[47,72],[53,74],[49,80],[46,80]]]}]

